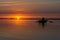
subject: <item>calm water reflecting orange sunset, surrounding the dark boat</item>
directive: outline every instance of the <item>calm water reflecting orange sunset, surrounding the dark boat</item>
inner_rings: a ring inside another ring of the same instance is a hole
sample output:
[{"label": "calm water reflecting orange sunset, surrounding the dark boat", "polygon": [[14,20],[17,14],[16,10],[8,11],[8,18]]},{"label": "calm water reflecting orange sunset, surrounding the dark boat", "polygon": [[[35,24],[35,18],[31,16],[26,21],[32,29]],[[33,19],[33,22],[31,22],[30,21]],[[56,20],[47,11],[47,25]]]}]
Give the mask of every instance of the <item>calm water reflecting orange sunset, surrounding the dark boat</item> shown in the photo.
[{"label": "calm water reflecting orange sunset, surrounding the dark boat", "polygon": [[0,20],[0,40],[60,40],[60,21],[53,22]]}]

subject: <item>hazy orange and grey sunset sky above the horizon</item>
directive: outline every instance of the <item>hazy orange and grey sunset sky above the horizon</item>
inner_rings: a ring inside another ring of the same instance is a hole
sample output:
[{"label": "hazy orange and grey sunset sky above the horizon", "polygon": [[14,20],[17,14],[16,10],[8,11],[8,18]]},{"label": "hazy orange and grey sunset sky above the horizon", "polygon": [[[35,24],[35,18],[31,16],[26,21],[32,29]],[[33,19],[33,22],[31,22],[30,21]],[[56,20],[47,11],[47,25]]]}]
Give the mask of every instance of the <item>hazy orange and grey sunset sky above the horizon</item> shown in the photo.
[{"label": "hazy orange and grey sunset sky above the horizon", "polygon": [[60,17],[60,0],[0,0],[0,17],[25,15]]}]

